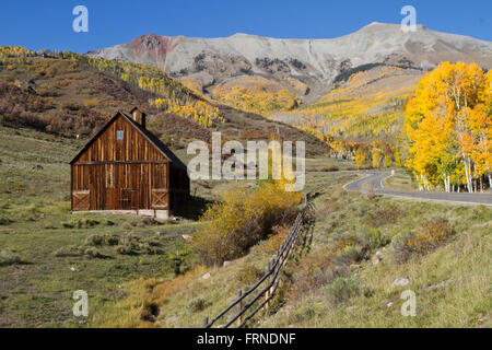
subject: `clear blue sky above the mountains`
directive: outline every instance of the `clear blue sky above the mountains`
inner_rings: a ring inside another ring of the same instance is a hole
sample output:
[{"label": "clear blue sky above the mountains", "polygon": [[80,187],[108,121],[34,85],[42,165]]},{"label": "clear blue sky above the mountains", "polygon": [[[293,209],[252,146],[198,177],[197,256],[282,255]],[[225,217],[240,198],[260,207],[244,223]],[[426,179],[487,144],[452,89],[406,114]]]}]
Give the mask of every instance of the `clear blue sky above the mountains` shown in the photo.
[{"label": "clear blue sky above the mountains", "polygon": [[[72,30],[78,4],[89,9],[89,33]],[[86,52],[148,33],[330,38],[374,21],[400,23],[406,4],[431,30],[492,40],[491,0],[17,0],[0,5],[0,45]]]}]

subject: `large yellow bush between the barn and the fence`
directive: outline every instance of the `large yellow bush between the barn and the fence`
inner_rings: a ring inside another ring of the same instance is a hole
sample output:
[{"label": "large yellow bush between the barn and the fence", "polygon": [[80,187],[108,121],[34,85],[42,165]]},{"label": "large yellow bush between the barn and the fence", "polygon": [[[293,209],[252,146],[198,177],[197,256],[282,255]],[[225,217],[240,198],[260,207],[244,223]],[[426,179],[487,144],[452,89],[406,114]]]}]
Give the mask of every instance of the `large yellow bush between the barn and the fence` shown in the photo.
[{"label": "large yellow bush between the barn and the fence", "polygon": [[194,249],[209,266],[238,258],[268,237],[273,226],[292,223],[300,200],[298,192],[286,192],[274,183],[265,182],[254,192],[233,188],[200,219],[203,225]]}]

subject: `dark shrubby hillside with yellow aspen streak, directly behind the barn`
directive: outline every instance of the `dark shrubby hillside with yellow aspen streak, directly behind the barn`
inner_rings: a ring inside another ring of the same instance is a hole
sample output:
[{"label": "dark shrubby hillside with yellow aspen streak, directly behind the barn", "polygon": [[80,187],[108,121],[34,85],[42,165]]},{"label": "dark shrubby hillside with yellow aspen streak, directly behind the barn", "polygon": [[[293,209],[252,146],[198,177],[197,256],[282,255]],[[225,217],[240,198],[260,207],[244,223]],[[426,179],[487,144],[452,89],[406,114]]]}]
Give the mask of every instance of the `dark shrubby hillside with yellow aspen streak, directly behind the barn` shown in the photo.
[{"label": "dark shrubby hillside with yellow aspen streak, directly behind the barn", "polygon": [[[148,113],[151,131],[173,149],[197,139],[210,141],[216,130],[224,140],[265,140],[279,133],[305,140],[308,155],[328,152],[327,144],[309,133],[213,104],[152,67],[87,60],[71,52],[17,55],[13,48],[0,49],[0,125],[84,139],[116,110],[138,105]],[[157,100],[164,105],[155,104]]]}]

